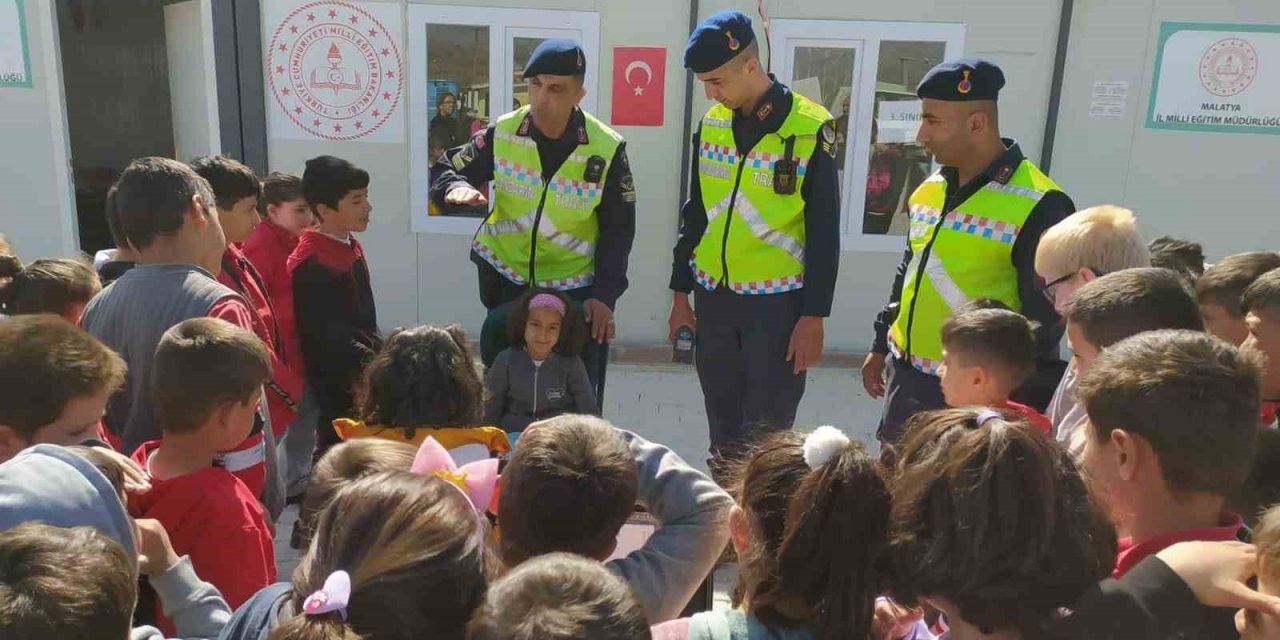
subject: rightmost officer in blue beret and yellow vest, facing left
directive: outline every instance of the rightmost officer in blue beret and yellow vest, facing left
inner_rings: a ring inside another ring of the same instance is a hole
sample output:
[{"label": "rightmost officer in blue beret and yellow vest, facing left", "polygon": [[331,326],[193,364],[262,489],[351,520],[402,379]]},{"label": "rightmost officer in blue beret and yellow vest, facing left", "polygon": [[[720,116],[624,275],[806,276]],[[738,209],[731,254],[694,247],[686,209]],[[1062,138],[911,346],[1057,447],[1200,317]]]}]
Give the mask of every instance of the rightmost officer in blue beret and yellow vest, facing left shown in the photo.
[{"label": "rightmost officer in blue beret and yellow vest, facing left", "polygon": [[906,252],[863,364],[867,392],[886,396],[881,442],[897,440],[913,415],[946,406],[937,376],[942,323],[972,300],[998,300],[1039,323],[1037,372],[1014,399],[1043,411],[1065,369],[1062,326],[1041,292],[1036,248],[1075,205],[1016,142],[1001,138],[1004,86],[993,63],[954,60],[915,90],[923,101],[916,140],[942,169],[911,195]]}]

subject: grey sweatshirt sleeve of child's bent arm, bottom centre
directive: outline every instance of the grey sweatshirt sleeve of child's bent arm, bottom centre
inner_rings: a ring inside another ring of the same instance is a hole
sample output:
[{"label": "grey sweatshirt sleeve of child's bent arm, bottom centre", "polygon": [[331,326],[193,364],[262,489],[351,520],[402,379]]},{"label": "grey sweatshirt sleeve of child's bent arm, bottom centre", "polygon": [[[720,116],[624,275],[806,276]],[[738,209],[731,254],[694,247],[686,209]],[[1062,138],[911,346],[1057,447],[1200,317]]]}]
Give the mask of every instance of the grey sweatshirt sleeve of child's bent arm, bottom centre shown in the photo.
[{"label": "grey sweatshirt sleeve of child's bent arm, bottom centre", "polygon": [[728,541],[733,499],[673,451],[622,431],[636,461],[639,503],[658,521],[644,547],[607,566],[635,590],[650,625],[680,616]]}]

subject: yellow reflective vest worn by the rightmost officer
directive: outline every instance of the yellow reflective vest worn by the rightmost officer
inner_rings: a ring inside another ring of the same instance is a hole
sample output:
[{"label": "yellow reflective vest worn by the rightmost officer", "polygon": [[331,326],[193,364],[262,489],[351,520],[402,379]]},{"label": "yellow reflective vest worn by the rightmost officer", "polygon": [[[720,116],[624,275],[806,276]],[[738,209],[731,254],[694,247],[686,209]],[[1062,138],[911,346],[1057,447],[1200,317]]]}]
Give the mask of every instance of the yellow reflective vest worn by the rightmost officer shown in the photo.
[{"label": "yellow reflective vest worn by the rightmost officer", "polygon": [[1006,184],[989,182],[943,212],[946,189],[940,172],[911,195],[911,261],[890,328],[893,355],[934,375],[942,362],[942,324],[955,308],[992,298],[1021,311],[1014,242],[1036,205],[1057,184],[1023,160]]}]

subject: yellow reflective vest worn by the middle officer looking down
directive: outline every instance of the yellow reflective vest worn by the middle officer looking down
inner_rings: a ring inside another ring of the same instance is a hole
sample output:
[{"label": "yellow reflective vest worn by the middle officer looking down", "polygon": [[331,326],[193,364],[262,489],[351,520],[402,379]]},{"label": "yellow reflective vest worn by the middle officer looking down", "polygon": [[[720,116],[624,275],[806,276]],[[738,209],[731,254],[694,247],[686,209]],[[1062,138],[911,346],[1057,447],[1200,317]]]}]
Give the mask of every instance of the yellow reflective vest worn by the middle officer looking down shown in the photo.
[{"label": "yellow reflective vest worn by the middle officer looking down", "polygon": [[[745,154],[733,142],[733,113],[714,105],[703,116],[698,180],[707,230],[690,266],[705,289],[726,284],[740,294],[782,293],[804,287],[805,172],[826,109],[792,92],[791,111],[777,132]],[[773,169],[787,152],[796,163],[791,195],[773,191]]]}]

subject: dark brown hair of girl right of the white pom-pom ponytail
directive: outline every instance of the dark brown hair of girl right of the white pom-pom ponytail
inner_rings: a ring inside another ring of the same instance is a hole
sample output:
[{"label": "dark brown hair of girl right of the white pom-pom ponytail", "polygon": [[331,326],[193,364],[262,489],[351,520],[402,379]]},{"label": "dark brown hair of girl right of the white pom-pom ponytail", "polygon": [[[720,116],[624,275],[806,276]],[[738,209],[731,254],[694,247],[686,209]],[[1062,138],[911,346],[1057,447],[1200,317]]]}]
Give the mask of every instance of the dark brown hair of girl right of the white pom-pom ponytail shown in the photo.
[{"label": "dark brown hair of girl right of the white pom-pom ponytail", "polygon": [[906,424],[893,479],[895,596],[937,596],[982,632],[1036,632],[1111,575],[1115,530],[1066,449],[1012,413]]}]

